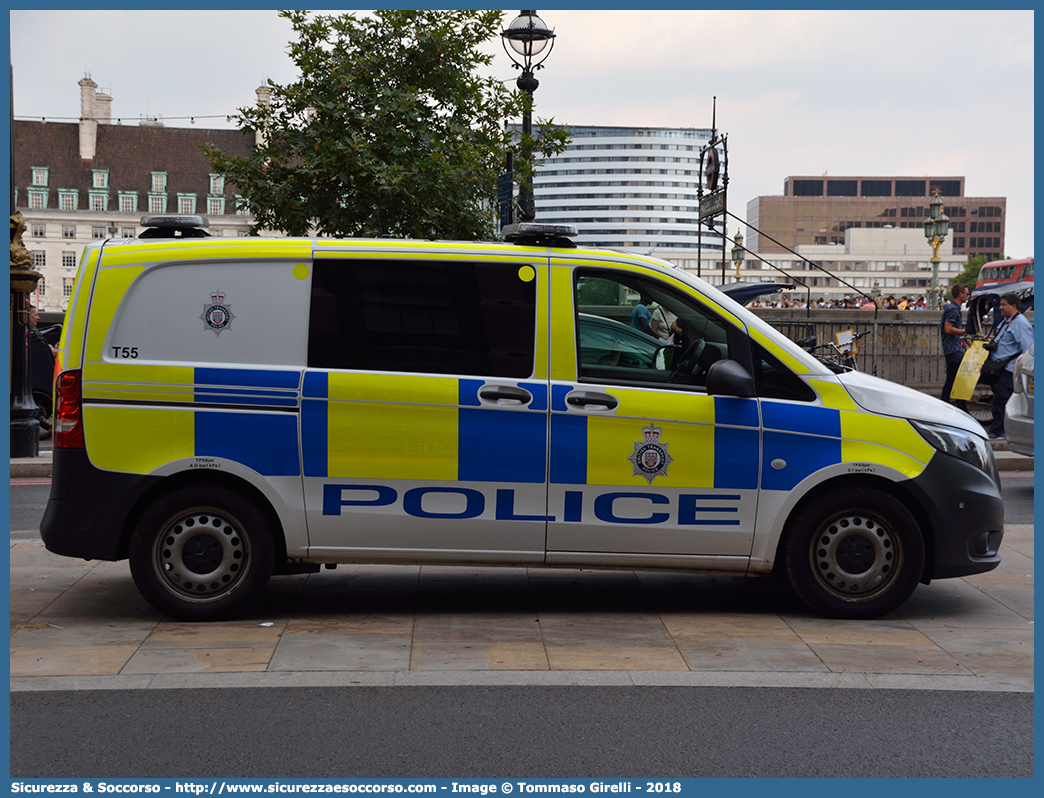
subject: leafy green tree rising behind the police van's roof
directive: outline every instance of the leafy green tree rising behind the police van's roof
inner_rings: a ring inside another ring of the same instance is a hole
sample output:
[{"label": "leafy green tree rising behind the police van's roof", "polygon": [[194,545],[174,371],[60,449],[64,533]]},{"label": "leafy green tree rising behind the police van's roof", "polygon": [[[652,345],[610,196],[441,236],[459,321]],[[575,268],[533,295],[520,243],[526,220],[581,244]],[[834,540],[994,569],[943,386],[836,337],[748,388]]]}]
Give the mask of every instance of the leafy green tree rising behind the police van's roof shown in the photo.
[{"label": "leafy green tree rising behind the police van's roof", "polygon": [[[264,137],[250,156],[204,148],[248,203],[256,229],[490,237],[512,148],[504,121],[529,101],[477,74],[493,61],[479,47],[499,34],[501,13],[279,14],[296,34],[289,53],[300,78],[269,80],[269,103],[239,110],[238,126]],[[565,148],[565,131],[550,121],[538,130],[516,143],[516,164],[526,146],[543,156]],[[531,181],[524,163],[521,177]]]}]

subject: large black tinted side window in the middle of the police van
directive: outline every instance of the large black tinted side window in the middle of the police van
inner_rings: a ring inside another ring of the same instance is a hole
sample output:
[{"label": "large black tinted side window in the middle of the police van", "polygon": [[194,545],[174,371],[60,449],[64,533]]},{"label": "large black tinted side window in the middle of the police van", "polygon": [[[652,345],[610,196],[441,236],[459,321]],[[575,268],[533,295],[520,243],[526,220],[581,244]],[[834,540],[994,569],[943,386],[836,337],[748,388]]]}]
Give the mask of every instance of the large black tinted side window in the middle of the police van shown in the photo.
[{"label": "large black tinted side window in the middle of the police van", "polygon": [[314,266],[311,368],[532,374],[537,280],[517,263],[331,258]]}]

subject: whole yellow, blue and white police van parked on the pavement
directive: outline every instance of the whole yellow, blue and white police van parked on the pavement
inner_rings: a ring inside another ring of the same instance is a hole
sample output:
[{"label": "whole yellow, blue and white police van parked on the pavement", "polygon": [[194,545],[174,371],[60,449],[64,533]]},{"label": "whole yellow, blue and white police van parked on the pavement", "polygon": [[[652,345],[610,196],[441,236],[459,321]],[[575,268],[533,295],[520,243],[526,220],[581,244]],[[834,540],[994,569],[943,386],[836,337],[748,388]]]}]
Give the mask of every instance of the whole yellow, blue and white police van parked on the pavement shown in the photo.
[{"label": "whole yellow, blue and white police van parked on the pavement", "polygon": [[777,569],[865,618],[1000,562],[971,417],[835,373],[662,261],[539,225],[474,243],[142,222],[79,265],[42,532],[129,558],[175,617],[322,563],[452,563]]}]

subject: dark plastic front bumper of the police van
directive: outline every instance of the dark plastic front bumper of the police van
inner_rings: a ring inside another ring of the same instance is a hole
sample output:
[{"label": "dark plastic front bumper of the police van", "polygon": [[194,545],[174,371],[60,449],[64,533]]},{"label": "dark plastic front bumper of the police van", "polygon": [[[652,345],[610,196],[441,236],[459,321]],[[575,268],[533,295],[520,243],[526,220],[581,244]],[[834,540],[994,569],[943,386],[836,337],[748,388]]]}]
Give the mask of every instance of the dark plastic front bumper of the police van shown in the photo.
[{"label": "dark plastic front bumper of the police van", "polygon": [[983,573],[1000,565],[1004,501],[993,477],[939,452],[920,476],[903,485],[928,527],[925,582]]}]

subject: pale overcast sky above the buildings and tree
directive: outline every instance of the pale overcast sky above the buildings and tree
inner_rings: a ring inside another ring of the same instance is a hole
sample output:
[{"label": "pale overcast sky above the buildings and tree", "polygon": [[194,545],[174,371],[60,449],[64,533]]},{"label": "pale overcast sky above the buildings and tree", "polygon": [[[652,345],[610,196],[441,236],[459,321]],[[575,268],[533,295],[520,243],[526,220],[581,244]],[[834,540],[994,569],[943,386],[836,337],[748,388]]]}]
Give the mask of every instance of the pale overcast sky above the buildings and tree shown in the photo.
[{"label": "pale overcast sky above the buildings and tree", "polygon": [[[716,97],[738,216],[791,174],[964,175],[1007,197],[1005,254],[1034,254],[1031,10],[540,14],[557,38],[535,115],[710,127]],[[90,75],[123,123],[233,126],[264,80],[294,79],[291,37],[275,10],[13,10],[15,116],[75,120]]]}]

